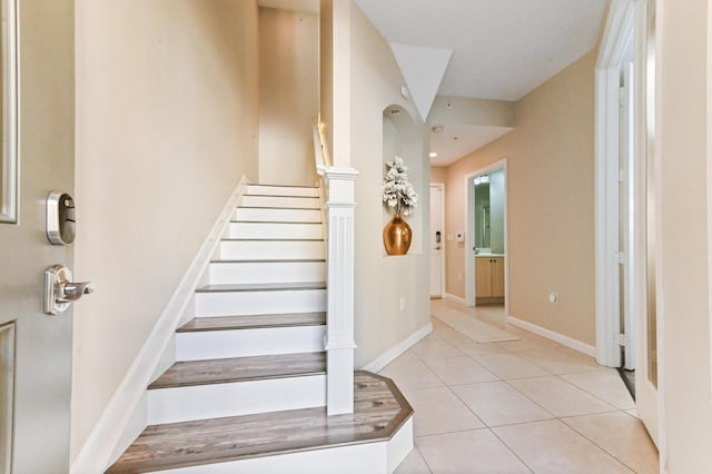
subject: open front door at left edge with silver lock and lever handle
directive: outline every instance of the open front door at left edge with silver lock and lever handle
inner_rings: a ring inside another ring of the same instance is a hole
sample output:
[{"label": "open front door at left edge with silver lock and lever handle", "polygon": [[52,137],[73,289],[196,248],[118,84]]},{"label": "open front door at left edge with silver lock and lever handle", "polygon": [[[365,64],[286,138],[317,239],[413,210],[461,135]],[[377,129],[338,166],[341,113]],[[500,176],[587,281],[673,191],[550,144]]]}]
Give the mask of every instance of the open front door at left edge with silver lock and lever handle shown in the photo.
[{"label": "open front door at left edge with silver lock and lever handle", "polygon": [[72,316],[46,315],[42,292],[44,270],[73,257],[44,226],[49,191],[73,188],[73,0],[18,3],[20,96],[2,101],[18,99],[20,195],[17,223],[0,224],[0,473],[66,473]]}]

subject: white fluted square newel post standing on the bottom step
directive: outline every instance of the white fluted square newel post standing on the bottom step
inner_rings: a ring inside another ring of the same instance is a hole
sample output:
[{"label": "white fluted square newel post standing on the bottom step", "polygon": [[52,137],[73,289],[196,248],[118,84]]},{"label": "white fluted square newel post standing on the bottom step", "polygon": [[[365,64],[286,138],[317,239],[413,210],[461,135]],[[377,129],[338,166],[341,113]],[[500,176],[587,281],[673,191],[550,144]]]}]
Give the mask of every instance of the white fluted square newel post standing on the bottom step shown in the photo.
[{"label": "white fluted square newel post standing on the bottom step", "polygon": [[326,405],[328,415],[354,412],[354,215],[353,168],[327,168]]}]

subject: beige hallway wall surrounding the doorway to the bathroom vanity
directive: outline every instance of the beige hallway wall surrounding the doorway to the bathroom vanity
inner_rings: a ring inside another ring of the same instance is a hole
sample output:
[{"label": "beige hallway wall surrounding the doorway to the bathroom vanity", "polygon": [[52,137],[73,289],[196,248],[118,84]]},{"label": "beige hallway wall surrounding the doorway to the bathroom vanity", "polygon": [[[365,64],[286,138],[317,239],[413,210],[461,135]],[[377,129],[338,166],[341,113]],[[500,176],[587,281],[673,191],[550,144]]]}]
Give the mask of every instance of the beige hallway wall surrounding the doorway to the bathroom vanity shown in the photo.
[{"label": "beige hallway wall surrounding the doorway to the bathroom vanity", "polygon": [[[590,52],[521,99],[517,127],[447,167],[446,233],[465,230],[464,176],[507,158],[510,315],[595,344],[594,66]],[[465,297],[465,246],[446,243]],[[560,303],[547,302],[557,292]]]}]

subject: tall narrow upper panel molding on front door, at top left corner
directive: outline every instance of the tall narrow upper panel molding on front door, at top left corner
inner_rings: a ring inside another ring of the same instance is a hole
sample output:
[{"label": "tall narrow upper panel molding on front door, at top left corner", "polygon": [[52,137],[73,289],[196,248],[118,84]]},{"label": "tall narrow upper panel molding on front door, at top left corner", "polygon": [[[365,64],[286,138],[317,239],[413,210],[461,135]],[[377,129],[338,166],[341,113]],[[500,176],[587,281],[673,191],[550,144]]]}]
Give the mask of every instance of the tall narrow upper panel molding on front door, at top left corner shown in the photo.
[{"label": "tall narrow upper panel molding on front door, at top left corner", "polygon": [[17,0],[2,1],[2,31],[0,50],[0,106],[2,124],[0,126],[0,223],[18,220],[18,55],[17,55]]}]

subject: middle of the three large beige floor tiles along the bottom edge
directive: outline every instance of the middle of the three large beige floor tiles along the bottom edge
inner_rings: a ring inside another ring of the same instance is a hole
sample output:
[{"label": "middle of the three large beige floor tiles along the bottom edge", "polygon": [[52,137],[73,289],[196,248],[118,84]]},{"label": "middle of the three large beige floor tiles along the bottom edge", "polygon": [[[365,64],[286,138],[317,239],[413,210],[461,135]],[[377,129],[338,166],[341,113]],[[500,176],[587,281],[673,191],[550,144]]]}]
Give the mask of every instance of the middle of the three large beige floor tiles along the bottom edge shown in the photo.
[{"label": "middle of the three large beige floor tiles along the bottom edge", "polygon": [[535,473],[631,473],[626,466],[554,419],[493,428]]}]

